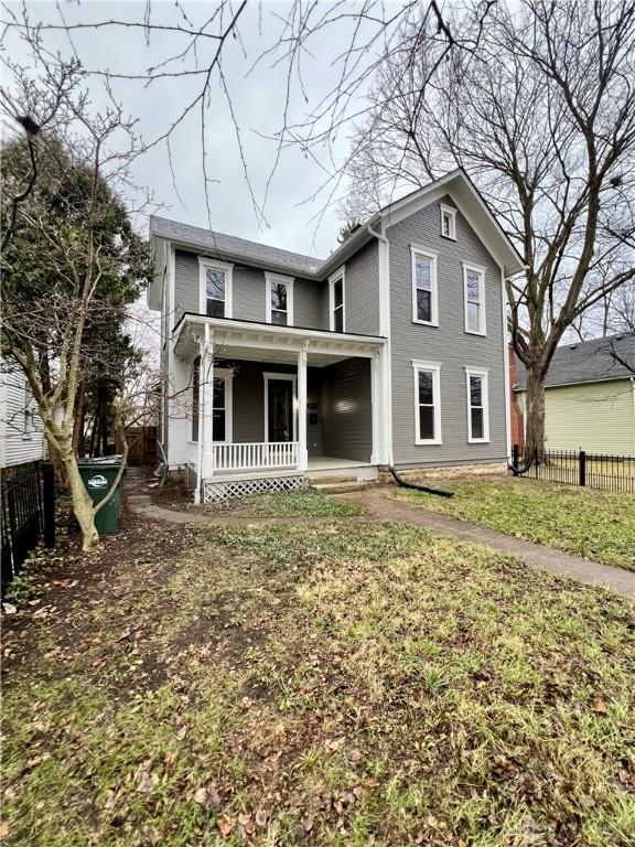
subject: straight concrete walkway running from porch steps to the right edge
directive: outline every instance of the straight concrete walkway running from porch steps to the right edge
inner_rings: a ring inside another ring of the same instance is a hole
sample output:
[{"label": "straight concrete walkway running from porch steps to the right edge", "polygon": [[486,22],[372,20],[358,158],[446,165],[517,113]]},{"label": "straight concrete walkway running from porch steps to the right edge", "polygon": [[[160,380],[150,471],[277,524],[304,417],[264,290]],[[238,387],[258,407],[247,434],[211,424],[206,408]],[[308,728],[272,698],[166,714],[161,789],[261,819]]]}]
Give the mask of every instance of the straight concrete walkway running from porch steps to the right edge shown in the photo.
[{"label": "straight concrete walkway running from porch steps to the right edge", "polygon": [[466,521],[458,521],[438,512],[430,512],[422,506],[402,503],[383,495],[377,490],[341,494],[341,500],[358,503],[378,521],[397,521],[415,524],[433,529],[440,535],[449,535],[475,544],[484,544],[494,547],[501,553],[512,554],[525,560],[532,568],[541,568],[561,577],[569,577],[578,582],[592,586],[602,586],[616,591],[622,597],[635,599],[635,573],[614,568],[610,565],[601,565],[596,561],[581,559],[571,556],[553,547],[525,542],[502,535],[494,529],[487,529]]}]

